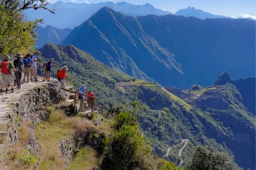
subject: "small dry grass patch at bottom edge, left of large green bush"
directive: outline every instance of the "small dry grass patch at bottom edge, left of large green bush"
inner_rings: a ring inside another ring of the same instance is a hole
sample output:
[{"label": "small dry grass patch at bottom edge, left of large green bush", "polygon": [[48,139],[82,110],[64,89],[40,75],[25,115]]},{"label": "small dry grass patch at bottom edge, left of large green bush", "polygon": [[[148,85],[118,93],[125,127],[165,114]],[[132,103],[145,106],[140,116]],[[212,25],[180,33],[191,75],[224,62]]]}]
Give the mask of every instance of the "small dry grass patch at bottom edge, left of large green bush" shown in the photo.
[{"label": "small dry grass patch at bottom edge, left of large green bush", "polygon": [[70,170],[90,170],[97,163],[96,152],[93,148],[85,147],[81,149],[72,160]]}]

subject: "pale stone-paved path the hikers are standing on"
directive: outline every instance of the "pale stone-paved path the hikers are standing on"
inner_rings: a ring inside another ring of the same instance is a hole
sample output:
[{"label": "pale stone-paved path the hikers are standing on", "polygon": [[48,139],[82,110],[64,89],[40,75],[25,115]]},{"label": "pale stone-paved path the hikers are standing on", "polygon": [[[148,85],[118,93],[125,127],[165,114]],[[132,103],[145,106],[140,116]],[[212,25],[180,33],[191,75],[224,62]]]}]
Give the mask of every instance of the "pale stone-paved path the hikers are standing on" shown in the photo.
[{"label": "pale stone-paved path the hikers are standing on", "polygon": [[[46,85],[49,82],[45,81],[42,82],[42,78],[38,78],[40,82],[28,82],[28,83],[22,83],[22,87],[20,90],[17,89],[17,87],[14,87],[14,92],[11,93],[11,90],[8,91],[8,94],[5,94],[5,92],[2,94],[0,93],[0,134],[6,134],[7,131],[4,125],[8,124],[11,121],[11,115],[14,114],[12,110],[12,104],[14,104],[15,101],[18,101],[19,98],[27,94],[28,90],[36,87],[36,86],[42,86]],[[58,80],[51,79],[50,82],[56,82]],[[73,88],[73,86],[68,86],[68,89]],[[8,88],[10,89],[10,87]],[[2,124],[2,125],[1,125]]]}]

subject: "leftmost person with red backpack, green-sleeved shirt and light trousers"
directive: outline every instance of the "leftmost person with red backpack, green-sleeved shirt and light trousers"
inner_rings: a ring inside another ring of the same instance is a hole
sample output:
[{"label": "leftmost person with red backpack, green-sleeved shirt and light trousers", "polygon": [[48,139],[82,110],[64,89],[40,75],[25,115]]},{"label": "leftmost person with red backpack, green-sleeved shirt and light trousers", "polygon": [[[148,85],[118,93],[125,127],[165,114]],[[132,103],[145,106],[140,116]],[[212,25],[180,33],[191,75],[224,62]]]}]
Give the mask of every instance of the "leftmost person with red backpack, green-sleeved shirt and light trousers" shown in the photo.
[{"label": "leftmost person with red backpack, green-sleeved shirt and light trousers", "polygon": [[13,63],[10,61],[10,56],[6,55],[4,57],[4,61],[1,63],[1,72],[2,72],[2,80],[3,80],[3,86],[5,86],[5,93],[8,94],[8,85],[11,86],[11,93],[14,92],[13,84],[14,84],[14,78],[12,75],[12,71],[17,71],[13,65]]}]

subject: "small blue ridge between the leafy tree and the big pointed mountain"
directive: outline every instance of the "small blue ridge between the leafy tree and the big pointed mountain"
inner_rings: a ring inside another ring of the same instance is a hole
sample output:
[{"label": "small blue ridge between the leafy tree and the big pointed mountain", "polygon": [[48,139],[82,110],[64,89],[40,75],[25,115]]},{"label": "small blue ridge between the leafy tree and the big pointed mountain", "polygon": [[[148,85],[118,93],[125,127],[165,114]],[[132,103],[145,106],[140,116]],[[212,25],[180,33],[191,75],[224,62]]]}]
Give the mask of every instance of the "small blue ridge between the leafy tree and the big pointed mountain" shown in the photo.
[{"label": "small blue ridge between the leafy tree and the big pointed mountain", "polygon": [[35,43],[37,45],[37,48],[41,48],[48,42],[60,44],[68,36],[72,29],[59,29],[47,25],[45,28],[40,26],[37,27],[36,31],[38,34],[38,40]]}]

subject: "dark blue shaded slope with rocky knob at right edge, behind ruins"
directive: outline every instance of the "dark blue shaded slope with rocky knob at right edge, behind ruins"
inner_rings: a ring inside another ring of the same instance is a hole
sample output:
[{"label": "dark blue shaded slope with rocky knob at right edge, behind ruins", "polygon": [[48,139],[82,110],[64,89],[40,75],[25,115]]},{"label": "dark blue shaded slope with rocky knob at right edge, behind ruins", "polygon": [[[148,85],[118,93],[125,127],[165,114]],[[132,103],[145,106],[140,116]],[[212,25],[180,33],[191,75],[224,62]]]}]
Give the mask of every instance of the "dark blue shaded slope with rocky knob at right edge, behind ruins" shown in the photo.
[{"label": "dark blue shaded slope with rocky knob at right edge, behind ruins", "polygon": [[218,79],[214,83],[215,86],[225,85],[226,83],[231,83],[237,87],[241,96],[242,103],[247,107],[248,111],[256,114],[256,79],[255,77],[247,77],[245,79],[233,80],[229,73],[224,72],[219,75]]}]

